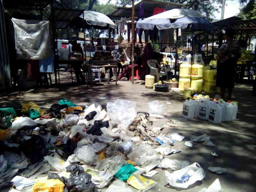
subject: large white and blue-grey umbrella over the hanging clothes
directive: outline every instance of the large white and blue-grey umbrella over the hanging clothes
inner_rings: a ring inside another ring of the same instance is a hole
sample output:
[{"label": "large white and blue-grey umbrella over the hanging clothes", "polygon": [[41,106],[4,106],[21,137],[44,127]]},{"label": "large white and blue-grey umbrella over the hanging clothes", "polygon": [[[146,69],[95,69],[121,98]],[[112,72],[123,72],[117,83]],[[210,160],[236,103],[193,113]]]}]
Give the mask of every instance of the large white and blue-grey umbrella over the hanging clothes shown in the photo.
[{"label": "large white and blue-grey umbrella over the hanging clothes", "polygon": [[[172,12],[173,11],[173,12]],[[143,20],[138,20],[136,28],[153,29],[167,28],[189,28],[191,31],[208,30],[212,27],[203,16],[192,9],[175,8],[168,10]]]}]

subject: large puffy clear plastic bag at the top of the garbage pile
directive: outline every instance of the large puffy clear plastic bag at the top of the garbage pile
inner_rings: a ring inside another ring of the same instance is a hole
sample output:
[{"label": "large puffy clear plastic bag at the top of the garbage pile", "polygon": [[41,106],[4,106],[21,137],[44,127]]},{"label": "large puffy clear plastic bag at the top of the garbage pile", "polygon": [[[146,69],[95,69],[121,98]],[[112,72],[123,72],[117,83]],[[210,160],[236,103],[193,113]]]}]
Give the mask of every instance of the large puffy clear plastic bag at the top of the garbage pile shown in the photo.
[{"label": "large puffy clear plastic bag at the top of the garbage pile", "polygon": [[106,104],[110,119],[116,124],[124,124],[128,127],[137,115],[136,103],[130,100],[117,99]]}]

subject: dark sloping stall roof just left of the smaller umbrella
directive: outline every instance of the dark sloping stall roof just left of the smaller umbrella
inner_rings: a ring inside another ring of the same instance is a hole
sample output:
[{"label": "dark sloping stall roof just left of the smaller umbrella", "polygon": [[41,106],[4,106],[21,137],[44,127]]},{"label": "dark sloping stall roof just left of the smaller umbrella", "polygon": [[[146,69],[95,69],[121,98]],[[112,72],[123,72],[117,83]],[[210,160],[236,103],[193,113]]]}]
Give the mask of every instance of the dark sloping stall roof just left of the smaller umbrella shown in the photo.
[{"label": "dark sloping stall roof just left of the smaller umbrella", "polygon": [[[79,17],[82,13],[83,10],[81,9],[55,8],[56,28],[66,28],[73,19]],[[52,15],[49,17],[49,20],[51,19]]]}]

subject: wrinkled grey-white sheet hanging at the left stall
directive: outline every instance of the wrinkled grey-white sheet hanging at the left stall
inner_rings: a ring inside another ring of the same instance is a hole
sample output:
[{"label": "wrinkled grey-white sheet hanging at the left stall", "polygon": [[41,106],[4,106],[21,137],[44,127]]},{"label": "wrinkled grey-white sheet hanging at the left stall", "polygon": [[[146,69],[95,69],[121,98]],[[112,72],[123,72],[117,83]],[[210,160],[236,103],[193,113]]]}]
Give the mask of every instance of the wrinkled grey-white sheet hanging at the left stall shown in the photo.
[{"label": "wrinkled grey-white sheet hanging at the left stall", "polygon": [[12,18],[17,59],[43,59],[52,55],[49,21]]}]

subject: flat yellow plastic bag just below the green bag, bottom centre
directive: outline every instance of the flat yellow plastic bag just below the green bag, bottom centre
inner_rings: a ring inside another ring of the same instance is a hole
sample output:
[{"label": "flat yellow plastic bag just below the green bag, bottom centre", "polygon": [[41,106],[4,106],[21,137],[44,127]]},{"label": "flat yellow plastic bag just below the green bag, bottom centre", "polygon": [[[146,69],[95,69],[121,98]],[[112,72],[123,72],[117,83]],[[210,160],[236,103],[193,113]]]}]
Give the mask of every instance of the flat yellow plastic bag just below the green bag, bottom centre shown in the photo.
[{"label": "flat yellow plastic bag just below the green bag, bottom centre", "polygon": [[127,183],[133,186],[134,188],[142,191],[147,191],[156,185],[156,182],[153,181],[152,179],[147,179],[136,173],[132,174],[128,178]]}]

